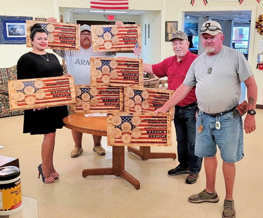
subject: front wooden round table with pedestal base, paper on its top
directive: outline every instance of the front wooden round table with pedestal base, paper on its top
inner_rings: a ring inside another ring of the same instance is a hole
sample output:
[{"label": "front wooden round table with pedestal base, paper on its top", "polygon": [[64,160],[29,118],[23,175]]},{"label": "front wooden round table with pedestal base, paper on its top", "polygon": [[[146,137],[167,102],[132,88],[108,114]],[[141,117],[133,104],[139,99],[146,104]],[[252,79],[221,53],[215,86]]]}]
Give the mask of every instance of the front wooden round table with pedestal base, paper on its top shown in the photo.
[{"label": "front wooden round table with pedestal base, paper on its top", "polygon": [[[65,127],[77,132],[89,133],[92,135],[107,136],[107,117],[85,117],[86,113],[75,113],[63,119]],[[140,182],[124,170],[124,146],[113,146],[112,167],[84,169],[82,176],[91,175],[115,175],[131,183],[135,189],[140,189]]]}]

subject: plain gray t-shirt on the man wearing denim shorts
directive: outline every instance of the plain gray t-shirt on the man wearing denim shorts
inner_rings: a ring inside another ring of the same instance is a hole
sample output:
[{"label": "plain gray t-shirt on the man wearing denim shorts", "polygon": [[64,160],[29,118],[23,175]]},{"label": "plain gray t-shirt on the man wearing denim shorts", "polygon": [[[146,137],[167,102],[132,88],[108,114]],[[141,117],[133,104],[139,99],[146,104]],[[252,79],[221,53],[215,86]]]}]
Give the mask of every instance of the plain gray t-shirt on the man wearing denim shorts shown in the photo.
[{"label": "plain gray t-shirt on the man wearing denim shorts", "polygon": [[[210,74],[208,69],[212,68]],[[191,64],[184,85],[196,86],[198,107],[208,114],[225,111],[236,105],[241,96],[240,82],[253,76],[245,56],[238,50],[223,46],[212,57],[206,52]]]}]

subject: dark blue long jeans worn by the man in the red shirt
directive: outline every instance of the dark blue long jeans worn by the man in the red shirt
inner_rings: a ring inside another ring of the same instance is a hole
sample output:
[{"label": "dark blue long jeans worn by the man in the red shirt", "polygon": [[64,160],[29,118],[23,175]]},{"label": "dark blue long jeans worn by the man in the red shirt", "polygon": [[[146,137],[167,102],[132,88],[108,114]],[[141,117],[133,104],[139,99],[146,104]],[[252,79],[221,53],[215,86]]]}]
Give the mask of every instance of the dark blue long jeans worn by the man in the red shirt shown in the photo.
[{"label": "dark blue long jeans worn by the man in the red shirt", "polygon": [[195,156],[195,113],[197,105],[175,106],[174,126],[177,140],[179,166],[198,174],[203,158]]}]

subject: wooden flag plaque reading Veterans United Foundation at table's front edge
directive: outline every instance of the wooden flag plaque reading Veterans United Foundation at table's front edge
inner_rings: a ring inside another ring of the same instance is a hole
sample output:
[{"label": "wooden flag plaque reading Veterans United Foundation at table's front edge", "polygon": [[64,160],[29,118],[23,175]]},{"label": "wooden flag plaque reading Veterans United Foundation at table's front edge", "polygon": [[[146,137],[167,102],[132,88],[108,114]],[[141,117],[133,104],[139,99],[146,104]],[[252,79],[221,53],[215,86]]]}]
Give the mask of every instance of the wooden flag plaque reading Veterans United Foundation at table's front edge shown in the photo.
[{"label": "wooden flag plaque reading Veterans United Foundation at table's front edge", "polygon": [[108,146],[171,146],[171,114],[108,113]]}]

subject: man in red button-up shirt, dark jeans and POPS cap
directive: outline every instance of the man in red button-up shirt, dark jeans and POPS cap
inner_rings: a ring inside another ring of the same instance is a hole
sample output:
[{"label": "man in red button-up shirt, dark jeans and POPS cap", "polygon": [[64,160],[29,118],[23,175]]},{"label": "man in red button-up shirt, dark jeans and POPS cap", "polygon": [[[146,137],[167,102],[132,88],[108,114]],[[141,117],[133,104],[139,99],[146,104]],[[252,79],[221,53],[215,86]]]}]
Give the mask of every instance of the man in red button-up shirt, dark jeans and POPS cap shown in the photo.
[{"label": "man in red button-up shirt, dark jeans and POPS cap", "polygon": [[[186,73],[198,55],[190,53],[185,32],[177,30],[172,34],[172,46],[175,56],[168,57],[158,64],[143,64],[144,72],[155,74],[159,78],[168,77],[168,89],[176,90],[184,81]],[[195,87],[175,106],[174,125],[177,136],[177,154],[179,165],[168,171],[169,175],[189,173],[187,184],[193,184],[199,177],[202,158],[195,156]]]}]

